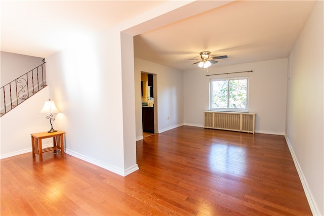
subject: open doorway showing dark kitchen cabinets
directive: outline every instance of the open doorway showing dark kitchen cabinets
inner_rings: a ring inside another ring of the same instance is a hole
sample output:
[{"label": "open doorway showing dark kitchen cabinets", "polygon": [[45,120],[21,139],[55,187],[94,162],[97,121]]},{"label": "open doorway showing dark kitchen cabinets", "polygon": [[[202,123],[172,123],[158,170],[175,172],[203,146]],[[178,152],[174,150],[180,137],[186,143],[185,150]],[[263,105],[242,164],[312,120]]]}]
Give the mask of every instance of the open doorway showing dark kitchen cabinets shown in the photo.
[{"label": "open doorway showing dark kitchen cabinets", "polygon": [[[154,81],[155,80],[155,81]],[[151,136],[156,129],[156,75],[141,72],[142,129],[143,138]]]}]

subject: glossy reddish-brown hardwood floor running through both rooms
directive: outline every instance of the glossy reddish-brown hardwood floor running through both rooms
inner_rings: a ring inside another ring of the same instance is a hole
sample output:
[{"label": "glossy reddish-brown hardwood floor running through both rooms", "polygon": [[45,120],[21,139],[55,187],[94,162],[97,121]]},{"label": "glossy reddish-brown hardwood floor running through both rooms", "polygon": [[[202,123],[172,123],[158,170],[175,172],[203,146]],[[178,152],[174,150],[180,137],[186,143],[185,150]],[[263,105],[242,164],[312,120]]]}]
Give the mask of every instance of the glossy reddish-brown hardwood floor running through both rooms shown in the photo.
[{"label": "glossy reddish-brown hardwood floor running through both rooms", "polygon": [[1,160],[1,215],[311,215],[283,136],[181,126],[127,177],[70,155]]}]

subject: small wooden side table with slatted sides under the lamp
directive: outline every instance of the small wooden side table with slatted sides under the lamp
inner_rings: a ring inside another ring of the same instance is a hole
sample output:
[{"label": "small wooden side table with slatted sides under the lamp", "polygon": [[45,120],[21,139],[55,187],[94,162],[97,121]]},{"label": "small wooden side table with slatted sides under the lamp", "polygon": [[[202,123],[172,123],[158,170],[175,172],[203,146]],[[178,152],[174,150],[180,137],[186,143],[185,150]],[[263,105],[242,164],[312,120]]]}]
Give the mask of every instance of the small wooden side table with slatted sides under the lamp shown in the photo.
[{"label": "small wooden side table with slatted sides under the lamp", "polygon": [[[55,153],[56,150],[61,150],[61,155],[64,156],[63,134],[65,134],[65,132],[62,131],[31,134],[32,157],[35,158],[36,154],[38,154],[39,161],[43,161],[43,152],[54,151]],[[46,138],[53,138],[53,147],[42,148],[42,139]]]}]

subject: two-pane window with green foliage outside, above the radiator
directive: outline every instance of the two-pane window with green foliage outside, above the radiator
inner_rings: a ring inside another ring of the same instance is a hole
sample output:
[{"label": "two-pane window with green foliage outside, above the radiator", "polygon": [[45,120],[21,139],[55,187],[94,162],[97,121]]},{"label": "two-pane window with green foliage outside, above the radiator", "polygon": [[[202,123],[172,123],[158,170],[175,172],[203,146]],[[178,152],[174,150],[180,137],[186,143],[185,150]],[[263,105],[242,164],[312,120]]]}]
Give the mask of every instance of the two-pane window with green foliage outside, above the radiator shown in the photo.
[{"label": "two-pane window with green foliage outside, above the radiator", "polygon": [[248,111],[248,77],[210,80],[209,109]]}]

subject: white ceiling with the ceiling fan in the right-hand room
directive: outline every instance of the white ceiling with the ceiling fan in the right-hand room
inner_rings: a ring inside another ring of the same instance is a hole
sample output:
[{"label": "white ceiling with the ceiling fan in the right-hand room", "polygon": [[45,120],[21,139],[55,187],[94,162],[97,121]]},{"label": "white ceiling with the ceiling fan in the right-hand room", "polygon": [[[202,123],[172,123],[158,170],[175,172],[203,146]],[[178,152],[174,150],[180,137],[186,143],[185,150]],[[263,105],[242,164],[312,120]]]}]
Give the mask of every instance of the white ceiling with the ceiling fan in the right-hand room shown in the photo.
[{"label": "white ceiling with the ceiling fan in the right-hand room", "polygon": [[235,1],[134,37],[135,56],[189,70],[199,52],[227,55],[215,65],[286,58],[312,1]]}]

